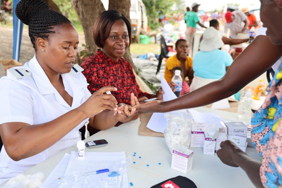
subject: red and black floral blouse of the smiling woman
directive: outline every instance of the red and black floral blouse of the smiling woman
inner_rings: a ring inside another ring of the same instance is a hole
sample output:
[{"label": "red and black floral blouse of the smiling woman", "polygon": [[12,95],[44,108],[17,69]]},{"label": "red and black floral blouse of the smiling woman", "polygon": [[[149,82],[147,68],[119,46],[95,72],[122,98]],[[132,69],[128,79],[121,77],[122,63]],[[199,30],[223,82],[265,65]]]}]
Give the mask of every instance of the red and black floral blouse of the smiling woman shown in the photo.
[{"label": "red and black floral blouse of the smiling woman", "polygon": [[112,95],[118,103],[128,105],[130,105],[130,93],[134,93],[137,98],[152,96],[139,89],[130,63],[123,58],[115,62],[98,50],[96,54],[85,60],[81,67],[84,69],[82,74],[89,83],[88,89],[91,93],[104,86],[114,86],[118,91],[112,91]]}]

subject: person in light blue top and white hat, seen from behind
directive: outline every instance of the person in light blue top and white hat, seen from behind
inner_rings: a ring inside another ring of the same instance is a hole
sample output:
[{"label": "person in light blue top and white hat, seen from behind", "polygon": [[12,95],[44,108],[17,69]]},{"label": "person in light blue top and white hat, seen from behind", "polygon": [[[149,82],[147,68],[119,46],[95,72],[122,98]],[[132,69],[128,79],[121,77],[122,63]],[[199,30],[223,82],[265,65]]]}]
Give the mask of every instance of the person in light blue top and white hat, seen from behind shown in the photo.
[{"label": "person in light blue top and white hat, seen from behind", "polygon": [[219,50],[223,46],[220,34],[214,27],[209,27],[203,34],[200,50],[194,57],[194,78],[190,85],[191,91],[212,81],[221,79],[233,59],[227,52]]}]

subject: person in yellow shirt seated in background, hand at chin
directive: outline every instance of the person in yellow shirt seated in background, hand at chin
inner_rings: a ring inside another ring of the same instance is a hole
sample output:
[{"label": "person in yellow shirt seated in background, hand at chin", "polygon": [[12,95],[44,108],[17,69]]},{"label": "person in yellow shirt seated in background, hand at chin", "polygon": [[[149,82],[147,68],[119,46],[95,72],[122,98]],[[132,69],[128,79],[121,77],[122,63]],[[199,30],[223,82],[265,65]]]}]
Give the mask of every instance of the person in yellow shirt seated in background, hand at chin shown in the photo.
[{"label": "person in yellow shirt seated in background, hand at chin", "polygon": [[182,67],[184,70],[184,78],[188,77],[189,81],[187,83],[191,83],[193,79],[193,59],[188,56],[188,43],[185,39],[179,39],[175,43],[176,54],[172,57],[169,57],[165,63],[165,80],[167,82],[171,82],[172,74],[174,71],[172,70],[176,66]]}]

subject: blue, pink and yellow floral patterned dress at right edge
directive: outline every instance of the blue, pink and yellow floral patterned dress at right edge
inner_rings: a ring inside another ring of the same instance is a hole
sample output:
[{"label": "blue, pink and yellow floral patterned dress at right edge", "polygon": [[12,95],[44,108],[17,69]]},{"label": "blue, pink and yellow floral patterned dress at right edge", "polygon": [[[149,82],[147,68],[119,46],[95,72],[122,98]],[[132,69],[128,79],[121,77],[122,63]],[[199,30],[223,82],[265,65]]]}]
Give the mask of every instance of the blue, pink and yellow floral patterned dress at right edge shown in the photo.
[{"label": "blue, pink and yellow floral patterned dress at right edge", "polygon": [[262,107],[254,113],[252,142],[262,157],[260,178],[264,187],[282,186],[282,63],[267,88]]}]

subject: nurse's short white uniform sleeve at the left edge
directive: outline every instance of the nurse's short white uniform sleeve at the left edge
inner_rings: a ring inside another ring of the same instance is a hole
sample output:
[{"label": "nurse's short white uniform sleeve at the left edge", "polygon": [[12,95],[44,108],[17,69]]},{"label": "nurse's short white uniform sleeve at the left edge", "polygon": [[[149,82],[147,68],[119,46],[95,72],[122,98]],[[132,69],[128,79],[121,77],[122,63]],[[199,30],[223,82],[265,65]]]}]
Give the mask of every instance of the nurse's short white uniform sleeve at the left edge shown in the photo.
[{"label": "nurse's short white uniform sleeve at the left edge", "polygon": [[33,124],[33,100],[29,88],[11,80],[0,82],[0,125],[8,122]]}]

